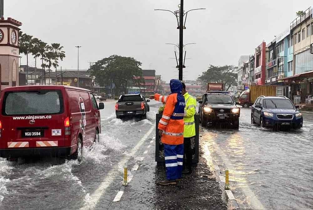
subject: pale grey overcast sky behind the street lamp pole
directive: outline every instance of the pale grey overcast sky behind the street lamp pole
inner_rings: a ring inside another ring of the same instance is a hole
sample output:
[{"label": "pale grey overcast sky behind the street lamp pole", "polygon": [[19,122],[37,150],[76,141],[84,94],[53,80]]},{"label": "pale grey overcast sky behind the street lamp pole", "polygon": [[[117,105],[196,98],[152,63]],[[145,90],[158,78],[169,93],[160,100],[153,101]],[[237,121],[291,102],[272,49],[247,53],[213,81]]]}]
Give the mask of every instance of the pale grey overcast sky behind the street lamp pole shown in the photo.
[{"label": "pale grey overcast sky behind the street lamp pole", "polygon": [[[47,43],[64,46],[63,69],[80,69],[90,61],[110,55],[131,56],[142,62],[142,69],[155,69],[163,80],[178,78],[174,46],[179,31],[172,13],[156,8],[177,10],[180,0],[4,0],[4,16],[23,23],[23,32]],[[187,16],[184,30],[186,46],[184,79],[196,79],[212,65],[237,65],[240,55],[252,54],[264,39],[274,39],[306,10],[312,0],[185,0]],[[30,66],[34,61],[29,60]],[[22,58],[22,65],[26,57]]]}]

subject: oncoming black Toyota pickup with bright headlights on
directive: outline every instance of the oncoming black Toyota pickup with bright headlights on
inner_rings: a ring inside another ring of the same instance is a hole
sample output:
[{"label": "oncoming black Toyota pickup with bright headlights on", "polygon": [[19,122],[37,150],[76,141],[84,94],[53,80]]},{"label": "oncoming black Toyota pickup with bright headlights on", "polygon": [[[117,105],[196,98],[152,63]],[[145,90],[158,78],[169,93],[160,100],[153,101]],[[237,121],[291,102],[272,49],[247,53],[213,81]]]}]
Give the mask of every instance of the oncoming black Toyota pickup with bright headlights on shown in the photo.
[{"label": "oncoming black Toyota pickup with bright headlights on", "polygon": [[227,124],[239,129],[240,108],[228,92],[210,91],[199,101],[201,125]]}]

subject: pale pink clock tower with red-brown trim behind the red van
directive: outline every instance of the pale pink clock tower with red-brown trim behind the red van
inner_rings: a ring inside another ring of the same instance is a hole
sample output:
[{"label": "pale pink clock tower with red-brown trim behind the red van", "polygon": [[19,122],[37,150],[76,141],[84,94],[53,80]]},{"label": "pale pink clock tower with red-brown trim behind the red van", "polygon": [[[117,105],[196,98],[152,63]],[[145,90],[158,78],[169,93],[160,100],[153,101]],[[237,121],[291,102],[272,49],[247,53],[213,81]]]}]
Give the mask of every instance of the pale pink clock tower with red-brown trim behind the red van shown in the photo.
[{"label": "pale pink clock tower with red-brown trim behind the red van", "polygon": [[0,90],[18,86],[18,31],[21,25],[21,22],[13,18],[0,19]]}]

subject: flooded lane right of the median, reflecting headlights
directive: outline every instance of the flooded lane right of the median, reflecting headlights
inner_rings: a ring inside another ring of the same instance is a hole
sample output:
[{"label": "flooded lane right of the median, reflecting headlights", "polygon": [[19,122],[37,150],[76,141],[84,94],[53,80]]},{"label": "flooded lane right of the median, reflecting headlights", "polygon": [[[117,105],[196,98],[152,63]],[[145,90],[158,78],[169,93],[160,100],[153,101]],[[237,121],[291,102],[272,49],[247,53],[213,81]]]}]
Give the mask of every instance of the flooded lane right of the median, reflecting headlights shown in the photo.
[{"label": "flooded lane right of the median, reflecting headlights", "polygon": [[312,209],[313,114],[303,112],[303,128],[273,132],[251,124],[242,108],[238,131],[203,129],[204,150],[223,171],[241,208]]}]

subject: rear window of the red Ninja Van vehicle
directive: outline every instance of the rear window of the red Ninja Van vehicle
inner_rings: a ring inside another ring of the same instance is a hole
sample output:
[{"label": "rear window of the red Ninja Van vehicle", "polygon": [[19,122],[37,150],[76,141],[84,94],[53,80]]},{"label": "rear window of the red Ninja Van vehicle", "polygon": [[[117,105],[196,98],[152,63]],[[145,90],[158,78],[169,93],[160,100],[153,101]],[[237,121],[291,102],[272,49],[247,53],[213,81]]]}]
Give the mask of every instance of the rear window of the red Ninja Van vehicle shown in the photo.
[{"label": "rear window of the red Ninja Van vehicle", "polygon": [[63,113],[60,90],[7,92],[3,101],[3,115],[32,115]]}]

